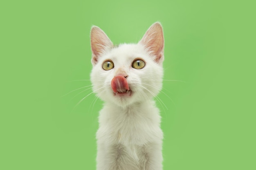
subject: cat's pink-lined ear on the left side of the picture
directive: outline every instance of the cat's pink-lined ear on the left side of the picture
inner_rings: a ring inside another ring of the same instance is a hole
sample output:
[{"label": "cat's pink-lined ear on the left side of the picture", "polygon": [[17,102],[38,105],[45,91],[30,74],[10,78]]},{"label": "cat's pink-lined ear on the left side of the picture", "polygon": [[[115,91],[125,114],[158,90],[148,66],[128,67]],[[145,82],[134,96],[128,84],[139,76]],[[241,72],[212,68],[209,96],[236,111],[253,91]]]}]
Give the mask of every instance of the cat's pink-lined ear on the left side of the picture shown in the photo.
[{"label": "cat's pink-lined ear on the left side of the picture", "polygon": [[97,64],[99,57],[113,47],[106,33],[98,26],[92,26],[91,29],[91,49],[92,49],[92,64]]}]

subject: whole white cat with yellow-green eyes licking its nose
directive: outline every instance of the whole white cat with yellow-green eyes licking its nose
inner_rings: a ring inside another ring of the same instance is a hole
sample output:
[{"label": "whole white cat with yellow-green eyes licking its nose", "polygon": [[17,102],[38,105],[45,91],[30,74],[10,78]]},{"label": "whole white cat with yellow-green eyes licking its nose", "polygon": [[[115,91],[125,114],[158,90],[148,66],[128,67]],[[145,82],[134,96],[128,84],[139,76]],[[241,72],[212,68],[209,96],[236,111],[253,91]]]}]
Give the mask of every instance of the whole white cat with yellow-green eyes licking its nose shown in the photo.
[{"label": "whole white cat with yellow-green eyes licking its nose", "polygon": [[97,170],[162,170],[159,109],[164,36],[154,23],[137,44],[113,45],[92,26],[93,91],[103,100],[97,131]]}]

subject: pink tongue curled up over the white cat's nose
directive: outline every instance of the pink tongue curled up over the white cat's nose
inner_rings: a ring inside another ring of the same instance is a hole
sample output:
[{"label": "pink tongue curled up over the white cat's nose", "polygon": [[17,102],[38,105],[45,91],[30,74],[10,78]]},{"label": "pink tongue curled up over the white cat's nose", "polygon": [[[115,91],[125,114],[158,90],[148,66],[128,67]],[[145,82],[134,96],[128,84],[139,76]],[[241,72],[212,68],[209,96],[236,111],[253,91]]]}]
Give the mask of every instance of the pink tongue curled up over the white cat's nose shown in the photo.
[{"label": "pink tongue curled up over the white cat's nose", "polygon": [[124,76],[116,76],[111,81],[111,87],[114,93],[125,93],[130,90],[126,78]]}]

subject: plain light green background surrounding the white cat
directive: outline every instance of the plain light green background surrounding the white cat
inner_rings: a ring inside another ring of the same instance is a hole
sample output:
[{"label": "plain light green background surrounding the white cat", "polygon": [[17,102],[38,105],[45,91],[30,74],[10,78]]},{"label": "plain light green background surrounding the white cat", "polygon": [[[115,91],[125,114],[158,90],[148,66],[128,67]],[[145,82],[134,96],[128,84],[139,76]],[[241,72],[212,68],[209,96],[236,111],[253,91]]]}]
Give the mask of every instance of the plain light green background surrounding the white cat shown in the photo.
[{"label": "plain light green background surrounding the white cat", "polygon": [[1,1],[0,169],[95,170],[90,28],[136,43],[159,21],[164,79],[184,81],[158,95],[164,170],[255,170],[254,11],[252,1]]}]

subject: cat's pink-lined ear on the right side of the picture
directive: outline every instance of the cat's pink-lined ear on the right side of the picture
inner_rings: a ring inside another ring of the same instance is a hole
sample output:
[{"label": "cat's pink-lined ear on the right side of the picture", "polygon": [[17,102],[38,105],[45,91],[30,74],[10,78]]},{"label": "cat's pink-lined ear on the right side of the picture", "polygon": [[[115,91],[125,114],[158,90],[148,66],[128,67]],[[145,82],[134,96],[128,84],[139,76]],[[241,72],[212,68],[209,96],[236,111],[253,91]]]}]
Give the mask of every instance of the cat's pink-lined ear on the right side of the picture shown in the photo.
[{"label": "cat's pink-lined ear on the right side of the picture", "polygon": [[164,33],[159,22],[149,27],[139,43],[144,45],[151,55],[155,56],[157,63],[162,64],[164,60]]}]

